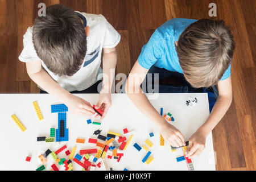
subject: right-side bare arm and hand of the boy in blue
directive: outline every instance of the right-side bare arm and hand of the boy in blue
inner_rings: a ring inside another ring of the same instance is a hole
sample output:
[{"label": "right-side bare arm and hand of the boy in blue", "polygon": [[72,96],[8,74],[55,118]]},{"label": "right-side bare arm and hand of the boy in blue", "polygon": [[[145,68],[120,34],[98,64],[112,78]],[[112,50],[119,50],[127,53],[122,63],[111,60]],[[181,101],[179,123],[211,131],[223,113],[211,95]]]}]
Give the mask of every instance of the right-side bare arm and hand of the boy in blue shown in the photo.
[{"label": "right-side bare arm and hand of the boy in blue", "polygon": [[232,102],[231,77],[218,82],[218,99],[213,106],[207,121],[191,136],[187,150],[187,157],[199,156],[205,148],[205,139],[210,131],[224,117]]}]

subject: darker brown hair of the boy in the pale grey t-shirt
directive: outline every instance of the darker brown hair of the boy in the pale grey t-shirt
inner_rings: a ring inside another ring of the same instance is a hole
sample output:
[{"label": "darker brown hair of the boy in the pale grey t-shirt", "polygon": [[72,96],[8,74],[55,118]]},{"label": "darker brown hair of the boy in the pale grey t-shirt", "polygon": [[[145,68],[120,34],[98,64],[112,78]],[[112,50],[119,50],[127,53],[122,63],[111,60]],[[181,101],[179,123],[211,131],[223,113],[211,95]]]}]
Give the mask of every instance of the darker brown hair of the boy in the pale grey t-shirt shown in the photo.
[{"label": "darker brown hair of the boy in the pale grey t-shirt", "polygon": [[80,17],[70,7],[47,7],[46,16],[35,19],[32,41],[51,72],[72,76],[79,71],[87,50],[86,33]]}]

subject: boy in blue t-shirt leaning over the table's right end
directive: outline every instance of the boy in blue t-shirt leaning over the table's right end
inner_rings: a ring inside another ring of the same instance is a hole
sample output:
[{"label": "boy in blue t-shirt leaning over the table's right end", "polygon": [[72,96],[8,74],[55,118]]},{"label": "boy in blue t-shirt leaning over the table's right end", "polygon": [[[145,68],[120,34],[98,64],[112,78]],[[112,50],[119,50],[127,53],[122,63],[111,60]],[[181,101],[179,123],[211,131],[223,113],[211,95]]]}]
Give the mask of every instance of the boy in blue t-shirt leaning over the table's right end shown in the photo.
[{"label": "boy in blue t-shirt leaning over the table's right end", "polygon": [[[184,136],[164,120],[141,90],[147,73],[159,73],[159,79],[184,75],[188,89],[213,87],[217,96],[209,118],[189,138],[187,157],[198,156],[204,150],[207,135],[224,116],[232,102],[230,63],[234,52],[233,36],[222,20],[171,19],[157,28],[143,46],[126,82],[131,101],[153,121],[163,137],[175,147],[184,146]],[[133,82],[131,75],[143,75]],[[129,79],[130,78],[130,79]],[[167,87],[170,88],[170,87]],[[139,90],[139,93],[134,93]],[[173,92],[173,90],[169,90]],[[175,92],[184,92],[184,88]],[[185,91],[186,92],[186,91]]]}]

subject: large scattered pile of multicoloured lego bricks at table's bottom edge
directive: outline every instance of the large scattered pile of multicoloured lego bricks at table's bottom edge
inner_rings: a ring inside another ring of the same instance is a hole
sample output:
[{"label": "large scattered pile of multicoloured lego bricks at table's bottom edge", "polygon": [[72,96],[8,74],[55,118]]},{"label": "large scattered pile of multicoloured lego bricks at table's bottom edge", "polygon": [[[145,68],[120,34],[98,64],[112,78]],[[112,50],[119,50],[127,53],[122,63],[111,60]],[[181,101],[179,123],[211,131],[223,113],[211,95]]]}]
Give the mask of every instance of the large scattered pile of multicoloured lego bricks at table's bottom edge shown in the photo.
[{"label": "large scattered pile of multicoloured lego bricks at table's bottom edge", "polygon": [[[73,147],[72,151],[70,152],[67,150],[67,146],[64,145],[57,151],[51,151],[48,149],[46,152],[44,152],[44,154],[38,156],[42,162],[42,166],[38,167],[36,170],[42,171],[46,169],[44,165],[47,163],[47,156],[49,154],[51,154],[51,157],[56,162],[51,165],[51,171],[59,171],[61,166],[64,166],[65,171],[72,171],[72,163],[74,162],[79,164],[83,171],[94,171],[96,168],[101,168],[106,171],[113,170],[109,167],[108,160],[112,159],[116,160],[116,162],[121,160],[122,156],[124,155],[124,151],[126,150],[127,146],[129,146],[129,143],[133,138],[133,132],[123,129],[123,135],[109,131],[108,134],[104,136],[101,134],[101,130],[96,130],[94,131],[93,135],[96,135],[97,138],[91,137],[87,141],[88,143],[95,144],[95,147],[93,148],[76,151],[76,147]],[[86,143],[85,139],[81,138],[77,138],[76,142],[77,144]],[[65,152],[68,159],[59,159],[57,155],[61,152]],[[30,162],[31,158],[27,156],[26,161]],[[125,168],[124,170],[127,169]]]}]

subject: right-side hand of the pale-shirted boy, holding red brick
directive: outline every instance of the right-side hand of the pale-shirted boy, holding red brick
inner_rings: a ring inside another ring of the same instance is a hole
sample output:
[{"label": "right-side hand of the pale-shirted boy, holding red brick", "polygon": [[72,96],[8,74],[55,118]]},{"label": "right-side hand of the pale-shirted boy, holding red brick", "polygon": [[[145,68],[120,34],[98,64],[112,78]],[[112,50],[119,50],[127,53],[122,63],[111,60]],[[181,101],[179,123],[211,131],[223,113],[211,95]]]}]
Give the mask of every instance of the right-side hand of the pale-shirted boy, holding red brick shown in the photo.
[{"label": "right-side hand of the pale-shirted boy, holding red brick", "polygon": [[98,99],[98,103],[96,105],[97,109],[100,109],[103,111],[103,114],[100,119],[103,119],[105,115],[108,113],[109,108],[111,107],[111,94],[110,93],[100,93],[100,98]]}]

